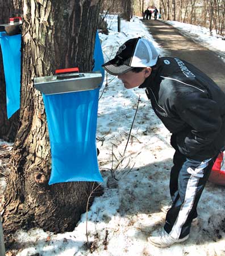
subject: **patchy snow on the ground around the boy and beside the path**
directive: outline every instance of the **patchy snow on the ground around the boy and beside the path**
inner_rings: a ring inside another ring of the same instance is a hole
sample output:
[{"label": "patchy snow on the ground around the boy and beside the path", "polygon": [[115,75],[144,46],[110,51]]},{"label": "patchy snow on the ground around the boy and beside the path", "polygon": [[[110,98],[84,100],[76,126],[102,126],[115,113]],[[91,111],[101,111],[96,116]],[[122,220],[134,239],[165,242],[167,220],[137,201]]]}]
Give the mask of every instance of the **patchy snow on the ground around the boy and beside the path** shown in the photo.
[{"label": "patchy snow on the ground around the boy and beside the path", "polygon": [[[105,61],[114,57],[126,40],[138,36],[151,40],[160,55],[164,55],[139,18],[134,17],[131,22],[122,20],[120,33],[116,32],[117,16],[109,16],[108,22],[109,35],[99,35]],[[186,29],[184,23],[179,26]],[[199,38],[204,44],[220,42],[220,39],[210,40],[206,34]],[[219,44],[213,46],[219,47]],[[223,47],[218,51],[224,53]],[[169,143],[170,134],[156,117],[143,89],[126,90],[117,77],[108,75],[101,93],[97,147],[104,194],[95,197],[87,216],[82,214],[73,232],[53,234],[41,229],[19,230],[16,255],[225,255],[224,187],[212,183],[207,183],[203,192],[198,224],[191,227],[189,240],[165,249],[147,242],[149,233],[163,226],[165,220],[159,201],[169,199],[174,153]],[[126,148],[139,97],[138,112]],[[112,177],[111,169],[117,180]],[[85,246],[86,225],[93,253]]]}]

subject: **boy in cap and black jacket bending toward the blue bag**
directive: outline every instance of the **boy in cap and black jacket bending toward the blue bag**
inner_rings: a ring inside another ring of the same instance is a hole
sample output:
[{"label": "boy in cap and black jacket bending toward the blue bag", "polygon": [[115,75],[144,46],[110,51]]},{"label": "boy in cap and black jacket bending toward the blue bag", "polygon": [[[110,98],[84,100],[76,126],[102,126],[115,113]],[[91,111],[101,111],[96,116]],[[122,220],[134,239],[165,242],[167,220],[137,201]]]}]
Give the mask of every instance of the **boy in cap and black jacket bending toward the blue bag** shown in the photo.
[{"label": "boy in cap and black jacket bending toward the blue bag", "polygon": [[[191,223],[197,221],[197,205],[211,168],[225,145],[225,94],[194,65],[159,57],[153,44],[142,38],[125,42],[102,66],[126,89],[145,88],[152,109],[172,134],[171,204],[161,201],[165,224],[148,241],[158,247],[185,241]],[[160,197],[163,188],[157,186]]]}]

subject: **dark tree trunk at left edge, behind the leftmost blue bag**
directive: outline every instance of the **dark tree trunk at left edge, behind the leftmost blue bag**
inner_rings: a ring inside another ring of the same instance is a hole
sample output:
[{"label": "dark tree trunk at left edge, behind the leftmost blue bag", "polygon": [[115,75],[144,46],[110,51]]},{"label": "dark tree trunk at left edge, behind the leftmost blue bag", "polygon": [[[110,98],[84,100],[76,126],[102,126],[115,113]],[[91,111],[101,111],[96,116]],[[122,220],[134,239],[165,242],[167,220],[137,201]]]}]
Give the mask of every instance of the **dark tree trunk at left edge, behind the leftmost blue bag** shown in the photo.
[{"label": "dark tree trunk at left edge, behind the leftmost blue bag", "polygon": [[[14,6],[11,0],[0,0],[0,24],[9,23],[10,16],[14,16]],[[6,112],[6,84],[3,71],[2,49],[0,46],[0,138],[12,142],[18,128],[19,111],[10,119]]]}]

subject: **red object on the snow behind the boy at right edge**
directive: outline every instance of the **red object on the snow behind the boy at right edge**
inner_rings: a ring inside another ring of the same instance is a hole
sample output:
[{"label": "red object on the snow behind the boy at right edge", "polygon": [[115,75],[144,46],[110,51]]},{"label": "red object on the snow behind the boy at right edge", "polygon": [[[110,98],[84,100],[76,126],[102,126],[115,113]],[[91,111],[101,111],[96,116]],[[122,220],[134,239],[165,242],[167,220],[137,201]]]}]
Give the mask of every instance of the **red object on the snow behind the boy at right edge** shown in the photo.
[{"label": "red object on the snow behind the boy at right edge", "polygon": [[211,174],[209,176],[209,181],[225,186],[225,170],[221,170],[221,165],[223,163],[223,152],[220,152],[218,158],[216,158],[213,165]]}]

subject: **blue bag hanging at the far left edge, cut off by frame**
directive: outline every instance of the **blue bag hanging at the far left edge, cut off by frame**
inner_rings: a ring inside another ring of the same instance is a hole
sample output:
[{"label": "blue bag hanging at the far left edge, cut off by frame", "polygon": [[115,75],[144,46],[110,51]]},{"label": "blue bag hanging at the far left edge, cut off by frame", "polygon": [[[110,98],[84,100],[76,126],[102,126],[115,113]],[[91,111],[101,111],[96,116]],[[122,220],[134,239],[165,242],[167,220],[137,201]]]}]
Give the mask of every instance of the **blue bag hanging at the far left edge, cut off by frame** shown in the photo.
[{"label": "blue bag hanging at the far left edge, cut off by frame", "polygon": [[0,32],[3,67],[6,80],[8,119],[20,108],[21,35],[9,36]]}]

